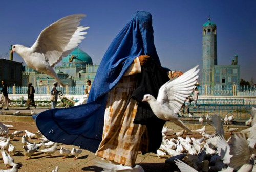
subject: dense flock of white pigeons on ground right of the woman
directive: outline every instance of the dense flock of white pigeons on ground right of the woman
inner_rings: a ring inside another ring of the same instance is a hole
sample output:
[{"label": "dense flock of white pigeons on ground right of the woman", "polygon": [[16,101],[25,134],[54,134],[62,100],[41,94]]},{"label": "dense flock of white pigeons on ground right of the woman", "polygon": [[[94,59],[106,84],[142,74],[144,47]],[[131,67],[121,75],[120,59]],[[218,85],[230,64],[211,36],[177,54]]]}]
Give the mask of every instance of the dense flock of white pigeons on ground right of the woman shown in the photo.
[{"label": "dense flock of white pigeons on ground right of the woman", "polygon": [[[183,138],[185,130],[173,133],[176,135],[176,139],[167,139],[166,133],[170,133],[171,130],[164,127],[162,144],[156,155],[159,158],[167,158],[169,155],[170,158],[166,159],[165,163],[176,164],[181,172],[256,171],[253,152],[256,143],[256,125],[254,125],[256,109],[254,107],[252,107],[250,119],[245,122],[245,125],[251,127],[231,135],[227,140],[224,137],[223,124],[232,124],[234,120],[232,115],[226,116],[224,119],[216,114],[201,117],[204,122],[214,127],[214,134],[207,134],[206,126],[203,126],[201,129],[193,131],[202,135],[199,139],[190,138],[189,135]],[[237,128],[227,126],[229,134],[232,134],[234,130]]]}]

